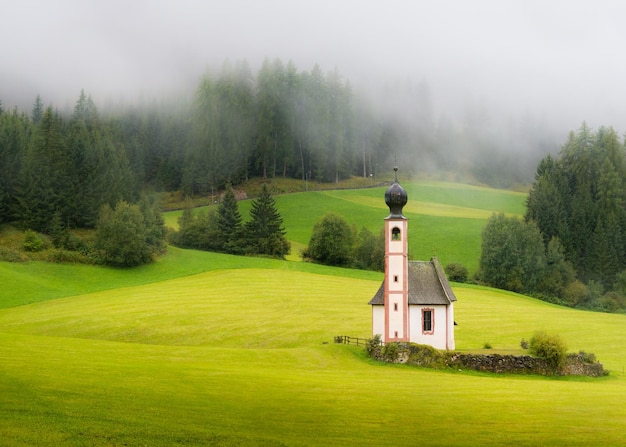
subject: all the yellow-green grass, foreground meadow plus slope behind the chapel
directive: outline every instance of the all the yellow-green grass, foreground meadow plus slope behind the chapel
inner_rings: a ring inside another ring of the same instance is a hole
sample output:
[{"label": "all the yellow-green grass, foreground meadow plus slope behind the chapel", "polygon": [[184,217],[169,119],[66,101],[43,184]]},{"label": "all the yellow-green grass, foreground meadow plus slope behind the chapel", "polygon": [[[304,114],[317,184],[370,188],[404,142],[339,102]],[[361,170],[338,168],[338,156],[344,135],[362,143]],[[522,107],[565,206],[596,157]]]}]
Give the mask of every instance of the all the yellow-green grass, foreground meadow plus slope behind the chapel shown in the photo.
[{"label": "all the yellow-green grass, foreground meadow plus slope behind the chapel", "polygon": [[[523,212],[512,193],[407,189],[415,258],[431,255],[428,241],[442,262],[464,262],[463,235],[476,238],[493,211]],[[306,244],[329,209],[379,228],[381,192],[277,202],[288,237]],[[461,234],[434,243],[446,219]],[[170,248],[132,270],[0,263],[0,278],[3,446],[624,445],[626,315],[455,285],[459,350],[521,353],[544,329],[612,371],[495,376],[378,364],[334,344],[370,335],[380,273]]]}]

